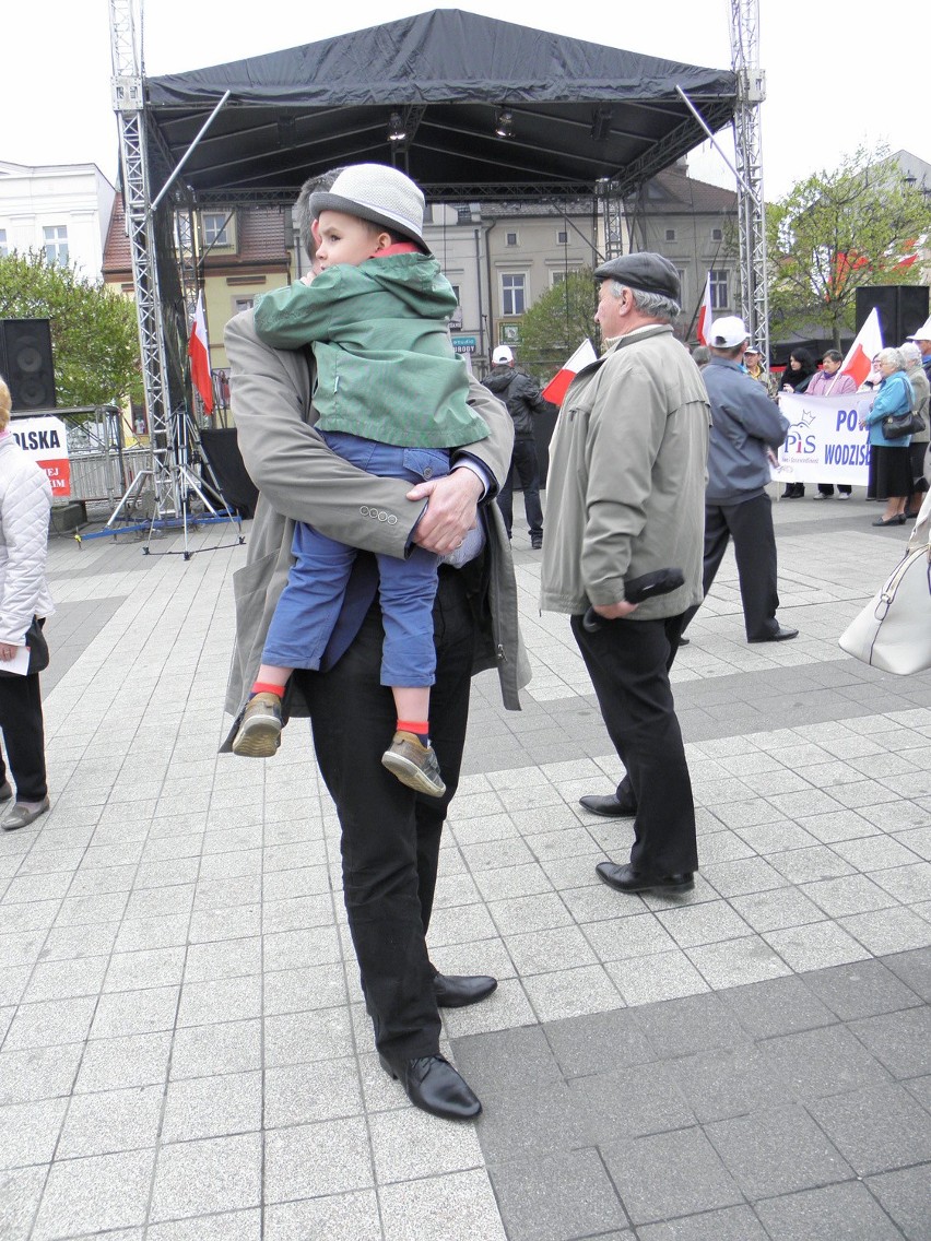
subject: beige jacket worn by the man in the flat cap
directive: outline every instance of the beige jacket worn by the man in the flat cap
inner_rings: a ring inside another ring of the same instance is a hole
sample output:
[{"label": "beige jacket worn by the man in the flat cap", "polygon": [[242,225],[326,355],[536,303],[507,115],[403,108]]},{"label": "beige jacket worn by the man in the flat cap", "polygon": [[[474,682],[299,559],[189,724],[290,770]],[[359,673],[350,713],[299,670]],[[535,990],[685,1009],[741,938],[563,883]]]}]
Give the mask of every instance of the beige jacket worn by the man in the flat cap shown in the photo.
[{"label": "beige jacket worn by the man in the flat cap", "polygon": [[578,372],[550,443],[545,611],[619,603],[626,577],[659,568],[685,585],[629,619],[701,602],[710,424],[701,374],[668,325],[638,328]]}]

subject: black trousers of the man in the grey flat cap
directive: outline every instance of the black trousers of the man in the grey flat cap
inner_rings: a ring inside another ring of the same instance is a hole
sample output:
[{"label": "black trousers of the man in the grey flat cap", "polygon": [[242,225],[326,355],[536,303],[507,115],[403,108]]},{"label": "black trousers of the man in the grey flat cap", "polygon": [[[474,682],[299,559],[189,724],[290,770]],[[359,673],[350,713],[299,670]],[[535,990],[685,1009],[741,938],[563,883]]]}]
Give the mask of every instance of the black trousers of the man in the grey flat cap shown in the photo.
[{"label": "black trousers of the man in the grey flat cap", "polygon": [[595,633],[572,617],[608,736],[627,768],[618,795],[637,805],[632,866],[644,875],[698,869],[695,805],[669,669],[684,614],[664,620],[606,620]]}]

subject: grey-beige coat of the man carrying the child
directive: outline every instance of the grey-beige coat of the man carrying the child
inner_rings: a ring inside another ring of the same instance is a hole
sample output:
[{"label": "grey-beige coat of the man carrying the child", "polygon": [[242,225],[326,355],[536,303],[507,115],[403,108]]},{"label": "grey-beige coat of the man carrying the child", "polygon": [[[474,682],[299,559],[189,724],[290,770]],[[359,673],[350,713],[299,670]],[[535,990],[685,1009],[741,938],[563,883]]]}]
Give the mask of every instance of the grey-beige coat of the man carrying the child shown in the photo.
[{"label": "grey-beige coat of the man carrying the child", "polygon": [[[256,679],[268,624],[292,565],[294,521],[305,521],[353,547],[402,558],[423,501],[406,499],[408,483],[376,478],[336,457],[313,429],[317,413],[310,405],[309,350],[292,352],[263,345],[247,310],[227,324],[226,351],[240,450],[261,493],[246,566],[233,575],[236,647],[226,709],[237,715]],[[469,453],[483,462],[492,478],[504,478],[514,438],[510,417],[474,380],[469,402],[490,429]],[[488,534],[489,607],[484,609],[474,670],[497,666],[504,705],[520,710],[518,689],[529,681],[530,666],[518,629],[510,544],[498,505],[485,504],[480,511]],[[292,714],[307,715],[299,695],[293,699]]]}]

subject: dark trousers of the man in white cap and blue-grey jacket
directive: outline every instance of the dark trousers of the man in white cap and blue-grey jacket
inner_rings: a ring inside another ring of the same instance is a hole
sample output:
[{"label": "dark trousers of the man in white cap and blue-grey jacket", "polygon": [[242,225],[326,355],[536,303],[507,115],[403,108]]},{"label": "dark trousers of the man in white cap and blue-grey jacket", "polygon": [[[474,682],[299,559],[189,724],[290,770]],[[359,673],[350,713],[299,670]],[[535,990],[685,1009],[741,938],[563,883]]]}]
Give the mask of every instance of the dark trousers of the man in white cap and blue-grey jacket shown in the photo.
[{"label": "dark trousers of the man in white cap and blue-grey jacket", "polygon": [[[742,500],[740,504],[705,505],[705,553],[701,573],[705,596],[711,589],[731,539],[737,560],[740,599],[744,606],[747,638],[765,638],[780,627],[776,619],[776,609],[780,606],[776,589],[776,534],[772,529],[772,503],[766,493],[753,496],[752,500]],[[696,607],[689,608],[685,613],[685,624],[696,612]]]}]

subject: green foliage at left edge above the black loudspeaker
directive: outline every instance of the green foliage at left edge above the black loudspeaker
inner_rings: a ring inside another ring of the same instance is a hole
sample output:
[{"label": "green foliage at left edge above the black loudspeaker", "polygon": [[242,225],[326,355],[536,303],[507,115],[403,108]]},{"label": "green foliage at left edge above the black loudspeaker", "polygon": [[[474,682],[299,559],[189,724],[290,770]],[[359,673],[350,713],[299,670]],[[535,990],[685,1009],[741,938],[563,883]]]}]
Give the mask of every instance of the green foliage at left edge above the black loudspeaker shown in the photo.
[{"label": "green foliage at left edge above the black loudspeaker", "polygon": [[142,401],[135,304],[50,263],[42,251],[0,257],[0,319],[50,319],[60,406]]}]

